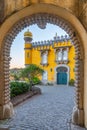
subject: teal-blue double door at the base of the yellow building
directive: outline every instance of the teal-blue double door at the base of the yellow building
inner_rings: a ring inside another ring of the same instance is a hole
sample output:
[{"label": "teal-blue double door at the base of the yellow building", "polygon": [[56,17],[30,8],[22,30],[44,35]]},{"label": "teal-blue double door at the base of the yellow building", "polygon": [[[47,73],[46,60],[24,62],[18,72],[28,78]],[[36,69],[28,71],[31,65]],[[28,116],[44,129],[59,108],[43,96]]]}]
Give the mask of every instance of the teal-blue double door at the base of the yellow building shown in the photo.
[{"label": "teal-blue double door at the base of the yellow building", "polygon": [[57,84],[67,84],[67,73],[66,72],[58,72],[57,73]]}]

